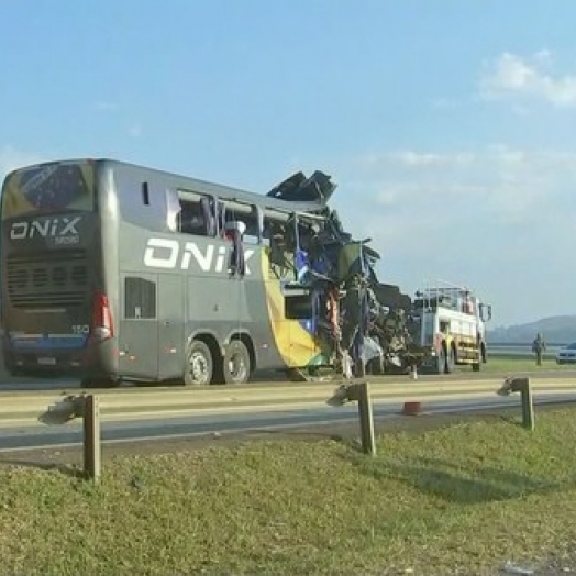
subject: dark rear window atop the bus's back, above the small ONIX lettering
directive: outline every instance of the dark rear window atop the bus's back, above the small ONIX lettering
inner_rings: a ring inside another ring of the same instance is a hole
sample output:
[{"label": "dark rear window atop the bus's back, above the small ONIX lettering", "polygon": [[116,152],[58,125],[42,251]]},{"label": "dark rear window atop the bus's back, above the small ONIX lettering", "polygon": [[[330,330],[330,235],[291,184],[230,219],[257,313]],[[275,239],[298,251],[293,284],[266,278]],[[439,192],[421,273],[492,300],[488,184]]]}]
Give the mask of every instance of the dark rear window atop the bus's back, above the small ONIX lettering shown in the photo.
[{"label": "dark rear window atop the bus's back, above the small ONIX lettering", "polygon": [[12,173],[2,190],[2,220],[95,209],[92,163],[52,163]]}]

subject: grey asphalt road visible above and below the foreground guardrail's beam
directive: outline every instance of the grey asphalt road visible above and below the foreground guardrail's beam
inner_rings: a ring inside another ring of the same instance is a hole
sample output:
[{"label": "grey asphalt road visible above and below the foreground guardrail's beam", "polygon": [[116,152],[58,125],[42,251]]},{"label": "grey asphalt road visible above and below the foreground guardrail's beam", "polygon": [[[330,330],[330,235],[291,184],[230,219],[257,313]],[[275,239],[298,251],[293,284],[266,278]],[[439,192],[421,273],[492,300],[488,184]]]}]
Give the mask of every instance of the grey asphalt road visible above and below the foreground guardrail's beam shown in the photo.
[{"label": "grey asphalt road visible above and below the foreground guardrail's beam", "polygon": [[[1,357],[0,357],[0,366]],[[518,376],[527,375],[530,376],[535,373],[517,374]],[[575,370],[563,370],[564,377],[573,375],[576,381],[576,369]],[[545,367],[538,370],[539,378],[546,378],[558,376],[557,370],[549,369]],[[498,378],[506,377],[505,374],[498,375],[494,372],[481,372],[473,373],[472,370],[458,370],[452,375],[432,376],[425,375],[419,378],[420,381],[430,381],[431,386],[435,383],[448,383],[451,380],[463,379],[466,380],[478,380],[485,378]],[[407,376],[385,376],[375,378],[378,381],[409,381]],[[286,383],[281,379],[281,375],[264,375],[259,378],[261,381],[253,383],[243,388],[261,388],[273,385],[276,387],[290,387],[295,386],[295,383]],[[126,387],[133,387],[134,385],[124,385],[122,389]],[[175,387],[171,387],[175,388]],[[176,386],[176,388],[178,388]],[[234,387],[229,387],[231,390]],[[42,377],[42,378],[30,378],[30,377],[11,377],[3,369],[0,368],[0,401],[2,398],[8,398],[12,392],[22,391],[55,391],[55,392],[75,392],[80,389],[78,379],[75,378],[62,378],[62,377]],[[142,388],[140,388],[142,390]],[[237,389],[237,388],[236,388]],[[136,390],[134,390],[136,391]],[[176,390],[174,390],[176,391]],[[114,394],[114,390],[107,390],[107,394]],[[535,395],[539,398],[539,395]],[[549,398],[552,398],[550,394]],[[543,398],[543,396],[542,396]],[[575,398],[568,398],[563,396],[556,398],[556,400],[576,400]],[[459,411],[473,411],[481,409],[496,409],[498,407],[506,406],[518,406],[518,397],[501,398],[492,394],[487,394],[483,398],[467,398],[446,401],[442,398],[429,398],[425,402],[427,410],[430,413],[446,413],[446,412],[459,412]],[[399,418],[399,411],[401,403],[386,403],[378,406],[375,403],[374,414],[375,422],[384,422]],[[405,417],[406,418],[406,417]],[[163,419],[146,419],[146,417],[135,418],[131,421],[123,422],[103,422],[102,423],[102,441],[106,444],[113,443],[134,443],[144,442],[151,440],[169,440],[169,439],[182,439],[182,437],[210,437],[219,436],[222,434],[231,435],[239,434],[246,431],[262,431],[262,430],[298,430],[304,427],[329,427],[337,428],[342,424],[355,424],[357,423],[357,408],[355,405],[348,405],[342,408],[322,407],[322,408],[298,408],[298,409],[281,409],[275,410],[274,412],[265,411],[262,408],[258,409],[255,406],[252,410],[242,413],[220,413],[220,414],[193,414],[185,418],[171,418],[166,416]],[[66,446],[66,445],[78,445],[82,442],[81,424],[80,421],[75,421],[65,425],[57,427],[43,427],[43,425],[30,425],[30,427],[13,427],[0,429],[0,452],[14,451],[14,450],[31,450],[31,448],[43,448],[54,446]]]}]

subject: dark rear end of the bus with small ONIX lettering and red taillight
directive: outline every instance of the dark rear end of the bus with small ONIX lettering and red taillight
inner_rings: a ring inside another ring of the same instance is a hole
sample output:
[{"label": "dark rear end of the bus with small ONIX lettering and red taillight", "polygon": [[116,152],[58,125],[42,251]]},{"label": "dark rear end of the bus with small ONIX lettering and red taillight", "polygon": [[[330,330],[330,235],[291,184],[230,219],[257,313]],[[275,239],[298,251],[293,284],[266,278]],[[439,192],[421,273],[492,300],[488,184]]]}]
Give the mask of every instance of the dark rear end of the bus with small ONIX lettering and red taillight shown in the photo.
[{"label": "dark rear end of the bus with small ONIX lettering and red taillight", "polygon": [[7,369],[101,372],[93,344],[111,339],[113,325],[108,299],[98,291],[96,164],[58,162],[11,173],[1,217]]}]

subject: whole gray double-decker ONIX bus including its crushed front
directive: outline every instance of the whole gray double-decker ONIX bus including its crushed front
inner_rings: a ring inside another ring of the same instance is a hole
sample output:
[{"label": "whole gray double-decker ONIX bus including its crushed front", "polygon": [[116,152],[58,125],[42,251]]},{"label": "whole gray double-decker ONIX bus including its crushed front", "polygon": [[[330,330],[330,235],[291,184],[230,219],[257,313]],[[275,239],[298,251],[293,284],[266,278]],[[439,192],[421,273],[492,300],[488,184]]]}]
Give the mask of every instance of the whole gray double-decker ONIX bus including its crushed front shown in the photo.
[{"label": "whole gray double-decker ONIX bus including its crushed front", "polygon": [[298,173],[267,195],[109,159],[16,169],[2,187],[12,374],[246,383],[255,370],[401,366],[410,298]]}]

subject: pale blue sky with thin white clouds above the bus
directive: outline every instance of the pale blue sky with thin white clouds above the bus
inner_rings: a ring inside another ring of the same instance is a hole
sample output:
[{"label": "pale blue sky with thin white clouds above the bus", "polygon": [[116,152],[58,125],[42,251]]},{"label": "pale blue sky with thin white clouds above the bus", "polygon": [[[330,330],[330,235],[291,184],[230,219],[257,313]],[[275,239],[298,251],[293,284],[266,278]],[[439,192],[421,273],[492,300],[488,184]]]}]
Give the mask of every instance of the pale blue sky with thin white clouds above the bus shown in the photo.
[{"label": "pale blue sky with thin white clouds above the bus", "polygon": [[339,182],[379,277],[576,313],[576,3],[0,0],[0,177],[113,157]]}]

